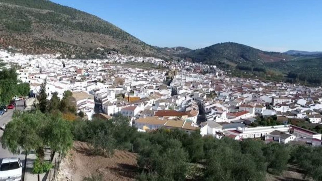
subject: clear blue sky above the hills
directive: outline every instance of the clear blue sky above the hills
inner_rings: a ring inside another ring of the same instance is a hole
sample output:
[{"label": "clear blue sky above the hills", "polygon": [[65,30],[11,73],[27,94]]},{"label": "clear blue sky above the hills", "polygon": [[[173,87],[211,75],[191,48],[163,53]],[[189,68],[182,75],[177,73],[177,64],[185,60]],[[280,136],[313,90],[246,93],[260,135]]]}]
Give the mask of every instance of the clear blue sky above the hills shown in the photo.
[{"label": "clear blue sky above the hills", "polygon": [[322,51],[320,0],[52,1],[159,47],[196,49],[231,41],[268,51]]}]

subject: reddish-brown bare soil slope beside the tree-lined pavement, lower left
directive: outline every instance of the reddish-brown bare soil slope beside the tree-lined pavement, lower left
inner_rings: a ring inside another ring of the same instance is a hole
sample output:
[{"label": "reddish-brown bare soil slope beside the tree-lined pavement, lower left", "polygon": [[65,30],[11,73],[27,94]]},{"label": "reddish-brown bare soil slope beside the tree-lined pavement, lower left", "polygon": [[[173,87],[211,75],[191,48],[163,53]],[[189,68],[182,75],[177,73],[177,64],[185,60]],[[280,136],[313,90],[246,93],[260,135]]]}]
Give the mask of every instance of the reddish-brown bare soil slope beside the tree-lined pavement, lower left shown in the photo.
[{"label": "reddish-brown bare soil slope beside the tree-lined pavement, lower left", "polygon": [[92,175],[103,180],[135,180],[137,155],[116,150],[111,158],[94,156],[85,142],[75,141],[70,154],[62,161],[57,180],[82,180]]}]

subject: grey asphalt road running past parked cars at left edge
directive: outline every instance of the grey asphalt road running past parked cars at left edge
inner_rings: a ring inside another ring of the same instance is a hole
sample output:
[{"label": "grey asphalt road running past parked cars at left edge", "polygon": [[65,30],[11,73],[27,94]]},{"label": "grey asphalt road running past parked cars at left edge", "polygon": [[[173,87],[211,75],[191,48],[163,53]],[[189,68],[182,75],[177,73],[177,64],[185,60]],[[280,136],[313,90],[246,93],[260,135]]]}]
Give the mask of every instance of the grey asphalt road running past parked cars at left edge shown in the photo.
[{"label": "grey asphalt road running past parked cars at left edge", "polygon": [[[17,110],[24,110],[24,101],[17,101],[16,102],[16,109]],[[4,115],[0,116],[0,125],[2,126],[5,123],[8,123],[11,120],[12,114],[14,113],[14,109],[8,109],[8,112],[6,112]],[[2,136],[3,131],[0,130],[0,137]],[[2,158],[12,158],[12,157],[19,157],[21,161],[24,163],[24,155],[14,155],[10,153],[7,149],[3,149],[2,146],[0,146],[0,159]]]}]

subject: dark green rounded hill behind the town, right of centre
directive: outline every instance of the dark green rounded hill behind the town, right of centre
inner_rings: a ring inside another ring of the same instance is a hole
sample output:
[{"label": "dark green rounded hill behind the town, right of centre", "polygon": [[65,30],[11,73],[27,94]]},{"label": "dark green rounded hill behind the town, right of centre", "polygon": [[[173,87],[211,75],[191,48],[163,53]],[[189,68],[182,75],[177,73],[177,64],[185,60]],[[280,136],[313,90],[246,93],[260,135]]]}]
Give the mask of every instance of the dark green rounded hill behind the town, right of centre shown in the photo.
[{"label": "dark green rounded hill behind the town, right of centre", "polygon": [[202,49],[192,50],[181,55],[182,58],[195,62],[227,65],[258,65],[264,62],[275,62],[293,59],[293,56],[278,52],[267,52],[243,44],[226,42],[218,43]]}]

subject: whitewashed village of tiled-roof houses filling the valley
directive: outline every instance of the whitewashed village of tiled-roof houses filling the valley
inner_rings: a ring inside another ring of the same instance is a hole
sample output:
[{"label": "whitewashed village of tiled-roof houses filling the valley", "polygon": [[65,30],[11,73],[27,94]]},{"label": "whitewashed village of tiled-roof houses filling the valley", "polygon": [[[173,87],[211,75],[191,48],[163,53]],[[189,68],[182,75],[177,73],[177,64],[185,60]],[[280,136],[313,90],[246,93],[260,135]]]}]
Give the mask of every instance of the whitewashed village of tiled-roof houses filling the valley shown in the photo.
[{"label": "whitewashed village of tiled-roof houses filling the valley", "polygon": [[[93,60],[60,56],[0,51],[7,67],[19,66],[18,77],[30,84],[31,97],[39,93],[44,81],[48,99],[54,92],[62,98],[70,90],[78,112],[88,120],[109,120],[122,114],[144,132],[165,127],[199,130],[202,136],[218,139],[321,146],[321,133],[308,129],[322,124],[321,88],[234,78],[216,66],[185,61],[120,54]],[[156,68],[128,62],[150,63]],[[278,124],[258,123],[267,118]]]}]

